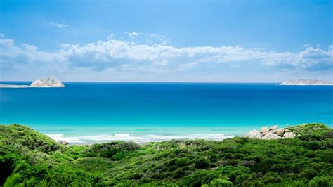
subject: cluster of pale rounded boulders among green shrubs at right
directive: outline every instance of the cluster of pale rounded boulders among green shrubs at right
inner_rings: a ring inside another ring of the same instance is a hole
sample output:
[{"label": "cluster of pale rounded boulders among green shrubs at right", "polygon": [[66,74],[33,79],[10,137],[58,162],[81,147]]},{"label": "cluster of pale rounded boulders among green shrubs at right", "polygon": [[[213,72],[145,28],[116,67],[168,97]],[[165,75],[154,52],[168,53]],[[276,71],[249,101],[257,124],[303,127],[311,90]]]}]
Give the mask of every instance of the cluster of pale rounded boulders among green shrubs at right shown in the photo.
[{"label": "cluster of pale rounded boulders among green shrubs at right", "polygon": [[296,134],[289,131],[287,128],[279,128],[278,125],[274,125],[270,128],[267,126],[261,127],[260,131],[252,130],[246,135],[249,138],[259,138],[259,139],[280,139],[280,138],[294,138]]}]

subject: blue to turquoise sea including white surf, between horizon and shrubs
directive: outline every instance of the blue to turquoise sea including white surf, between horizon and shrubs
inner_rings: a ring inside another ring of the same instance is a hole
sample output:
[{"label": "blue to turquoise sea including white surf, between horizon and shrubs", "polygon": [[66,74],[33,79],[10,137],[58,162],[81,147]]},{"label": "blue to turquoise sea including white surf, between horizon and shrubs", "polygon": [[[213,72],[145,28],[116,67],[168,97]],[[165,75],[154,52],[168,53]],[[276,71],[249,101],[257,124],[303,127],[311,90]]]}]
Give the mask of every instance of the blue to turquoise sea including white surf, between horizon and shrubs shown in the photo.
[{"label": "blue to turquoise sea including white surf, between horizon and shrubs", "polygon": [[0,89],[0,123],[25,124],[70,143],[221,140],[265,125],[333,125],[333,86],[64,84],[65,88]]}]

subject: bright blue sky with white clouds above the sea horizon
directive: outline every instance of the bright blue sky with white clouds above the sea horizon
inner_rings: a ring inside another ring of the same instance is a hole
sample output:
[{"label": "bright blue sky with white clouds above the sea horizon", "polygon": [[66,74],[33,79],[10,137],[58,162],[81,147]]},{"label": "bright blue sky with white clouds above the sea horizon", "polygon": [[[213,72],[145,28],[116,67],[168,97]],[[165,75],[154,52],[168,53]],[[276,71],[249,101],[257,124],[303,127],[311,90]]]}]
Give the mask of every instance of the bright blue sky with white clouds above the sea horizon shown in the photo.
[{"label": "bright blue sky with white clouds above the sea horizon", "polygon": [[0,0],[0,81],[333,81],[332,1]]}]

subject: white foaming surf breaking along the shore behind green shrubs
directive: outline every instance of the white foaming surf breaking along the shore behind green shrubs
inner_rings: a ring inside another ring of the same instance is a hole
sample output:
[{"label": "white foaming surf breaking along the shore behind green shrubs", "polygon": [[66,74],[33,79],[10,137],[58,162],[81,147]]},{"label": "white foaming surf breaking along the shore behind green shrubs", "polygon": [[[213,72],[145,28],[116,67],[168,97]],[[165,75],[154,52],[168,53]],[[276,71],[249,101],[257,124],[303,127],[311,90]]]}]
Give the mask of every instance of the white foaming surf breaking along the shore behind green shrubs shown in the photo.
[{"label": "white foaming surf breaking along the shore behind green shrubs", "polygon": [[105,143],[110,141],[133,141],[136,143],[148,143],[155,141],[169,141],[173,139],[206,139],[221,141],[226,138],[233,138],[234,136],[225,136],[224,134],[190,134],[183,136],[166,136],[159,134],[148,135],[131,135],[131,134],[100,134],[90,136],[72,136],[66,134],[46,134],[55,141],[64,140],[71,144],[91,144],[91,143]]}]

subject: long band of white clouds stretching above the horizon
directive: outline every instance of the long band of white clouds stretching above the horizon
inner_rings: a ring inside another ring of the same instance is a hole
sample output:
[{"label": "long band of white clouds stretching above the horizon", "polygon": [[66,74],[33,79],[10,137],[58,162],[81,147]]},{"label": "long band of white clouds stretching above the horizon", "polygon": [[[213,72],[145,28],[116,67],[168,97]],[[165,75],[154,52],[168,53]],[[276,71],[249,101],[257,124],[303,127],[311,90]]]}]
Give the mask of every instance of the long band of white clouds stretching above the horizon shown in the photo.
[{"label": "long band of white clouds stretching above the horizon", "polygon": [[[134,32],[129,33],[132,36]],[[75,72],[168,73],[202,70],[206,67],[239,69],[249,65],[302,72],[332,71],[333,45],[328,49],[306,46],[298,53],[247,49],[242,46],[176,47],[160,44],[135,44],[109,37],[88,44],[62,44],[57,51],[42,51],[36,46],[15,45],[13,39],[0,39],[1,70],[49,70]],[[237,68],[236,68],[237,67]]]}]

